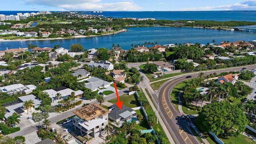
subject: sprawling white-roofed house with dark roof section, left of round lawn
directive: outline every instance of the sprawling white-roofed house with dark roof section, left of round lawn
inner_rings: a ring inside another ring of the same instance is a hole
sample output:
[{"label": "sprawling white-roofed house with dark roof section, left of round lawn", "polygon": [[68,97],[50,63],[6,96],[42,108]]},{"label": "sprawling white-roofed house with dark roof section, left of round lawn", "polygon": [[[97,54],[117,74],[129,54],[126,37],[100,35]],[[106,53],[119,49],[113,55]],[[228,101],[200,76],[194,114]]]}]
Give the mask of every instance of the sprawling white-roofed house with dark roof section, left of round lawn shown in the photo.
[{"label": "sprawling white-roofed house with dark roof section, left of round lawn", "polygon": [[[65,86],[61,86],[58,88],[50,89],[50,90],[44,90],[43,92],[46,92],[49,94],[50,98],[52,98],[52,102],[57,102],[59,99],[65,99],[71,96],[71,93],[74,92],[76,97],[80,97],[84,94],[82,90],[71,90],[70,88],[66,88]],[[56,98],[57,93],[60,93],[60,98]]]}]

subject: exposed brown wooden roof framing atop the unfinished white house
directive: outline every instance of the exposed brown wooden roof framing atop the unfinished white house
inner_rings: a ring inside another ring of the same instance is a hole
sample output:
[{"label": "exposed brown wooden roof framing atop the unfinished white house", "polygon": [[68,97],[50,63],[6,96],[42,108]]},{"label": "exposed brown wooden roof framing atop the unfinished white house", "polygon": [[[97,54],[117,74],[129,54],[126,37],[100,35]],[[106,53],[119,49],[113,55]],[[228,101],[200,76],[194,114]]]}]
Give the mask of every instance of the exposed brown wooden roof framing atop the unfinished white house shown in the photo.
[{"label": "exposed brown wooden roof framing atop the unfinished white house", "polygon": [[96,103],[92,103],[88,106],[74,110],[73,113],[76,114],[79,118],[89,121],[96,118],[97,116],[106,115],[110,113],[110,111]]}]

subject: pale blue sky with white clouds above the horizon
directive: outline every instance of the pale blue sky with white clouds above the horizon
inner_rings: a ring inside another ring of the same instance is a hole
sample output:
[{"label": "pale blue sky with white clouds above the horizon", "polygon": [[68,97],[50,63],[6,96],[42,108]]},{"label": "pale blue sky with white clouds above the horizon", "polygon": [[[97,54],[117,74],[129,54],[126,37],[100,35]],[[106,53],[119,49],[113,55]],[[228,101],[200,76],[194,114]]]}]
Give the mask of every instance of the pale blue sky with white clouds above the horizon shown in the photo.
[{"label": "pale blue sky with white clouds above the horizon", "polygon": [[256,10],[256,0],[1,0],[1,11]]}]

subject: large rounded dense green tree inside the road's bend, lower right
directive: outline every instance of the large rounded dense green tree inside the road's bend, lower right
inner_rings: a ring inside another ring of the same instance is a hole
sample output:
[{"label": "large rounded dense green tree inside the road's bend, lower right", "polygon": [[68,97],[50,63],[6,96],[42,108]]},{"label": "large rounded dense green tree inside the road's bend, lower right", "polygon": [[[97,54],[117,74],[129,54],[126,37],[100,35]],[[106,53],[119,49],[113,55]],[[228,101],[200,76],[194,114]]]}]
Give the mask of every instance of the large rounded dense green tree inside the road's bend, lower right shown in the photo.
[{"label": "large rounded dense green tree inside the road's bend, lower right", "polygon": [[208,104],[198,112],[196,123],[204,133],[216,136],[238,136],[244,132],[248,120],[244,112],[230,102]]}]

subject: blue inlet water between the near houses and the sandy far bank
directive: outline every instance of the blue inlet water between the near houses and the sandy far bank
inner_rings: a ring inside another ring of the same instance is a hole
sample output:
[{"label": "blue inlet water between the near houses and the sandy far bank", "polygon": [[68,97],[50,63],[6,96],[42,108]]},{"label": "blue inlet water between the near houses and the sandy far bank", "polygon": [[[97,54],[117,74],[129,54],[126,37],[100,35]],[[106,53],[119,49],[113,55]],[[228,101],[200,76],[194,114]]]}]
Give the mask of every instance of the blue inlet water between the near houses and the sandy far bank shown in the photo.
[{"label": "blue inlet water between the near houses and the sandy far bank", "polygon": [[71,38],[59,40],[28,40],[28,41],[6,41],[0,42],[0,50],[8,48],[27,48],[28,44],[39,47],[51,47],[60,44],[64,48],[70,48],[72,44],[80,43],[84,49],[90,48],[112,48],[112,44],[119,44],[122,49],[129,50],[131,44],[138,45],[145,42],[164,44],[211,43],[214,39],[216,44],[222,41],[256,40],[256,33],[230,30],[212,30],[204,28],[176,28],[176,27],[146,27],[127,28],[127,32],[112,34],[108,36],[94,36],[86,38]]}]

